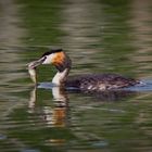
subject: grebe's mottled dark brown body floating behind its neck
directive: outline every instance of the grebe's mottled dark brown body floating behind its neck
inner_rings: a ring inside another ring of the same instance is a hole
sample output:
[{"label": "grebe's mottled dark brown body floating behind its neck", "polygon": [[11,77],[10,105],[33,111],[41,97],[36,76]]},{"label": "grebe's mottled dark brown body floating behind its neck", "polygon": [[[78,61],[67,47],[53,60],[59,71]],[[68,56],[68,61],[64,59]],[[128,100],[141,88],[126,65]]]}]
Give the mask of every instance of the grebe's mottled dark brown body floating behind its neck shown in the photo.
[{"label": "grebe's mottled dark brown body floating behind its neck", "polygon": [[139,81],[117,74],[89,74],[69,77],[65,86],[80,90],[111,90],[135,86],[136,84]]}]

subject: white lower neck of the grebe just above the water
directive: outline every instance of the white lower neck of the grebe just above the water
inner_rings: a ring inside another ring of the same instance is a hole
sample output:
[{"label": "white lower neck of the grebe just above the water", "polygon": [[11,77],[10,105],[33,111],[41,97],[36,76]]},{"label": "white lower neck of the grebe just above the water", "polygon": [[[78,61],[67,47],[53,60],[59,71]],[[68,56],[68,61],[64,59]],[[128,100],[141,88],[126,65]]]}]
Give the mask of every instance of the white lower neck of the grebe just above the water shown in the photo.
[{"label": "white lower neck of the grebe just above the water", "polygon": [[63,72],[58,72],[52,79],[52,84],[54,84],[55,86],[61,86],[66,80],[68,71],[68,68],[65,68]]}]

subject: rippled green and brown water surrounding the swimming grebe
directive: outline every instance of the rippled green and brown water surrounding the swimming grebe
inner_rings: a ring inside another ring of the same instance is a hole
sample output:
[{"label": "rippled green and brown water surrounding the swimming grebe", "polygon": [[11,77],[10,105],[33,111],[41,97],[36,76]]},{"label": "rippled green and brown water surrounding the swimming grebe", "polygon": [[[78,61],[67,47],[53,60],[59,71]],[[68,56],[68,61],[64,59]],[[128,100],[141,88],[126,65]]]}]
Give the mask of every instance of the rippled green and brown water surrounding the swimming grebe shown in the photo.
[{"label": "rippled green and brown water surrounding the swimming grebe", "polygon": [[[0,3],[0,151],[152,151],[152,2],[13,3],[15,14],[5,14],[7,3]],[[137,91],[65,92],[51,88],[55,69],[50,65],[38,68],[35,88],[27,63],[49,48],[69,54],[71,75],[119,73],[148,85]]]}]

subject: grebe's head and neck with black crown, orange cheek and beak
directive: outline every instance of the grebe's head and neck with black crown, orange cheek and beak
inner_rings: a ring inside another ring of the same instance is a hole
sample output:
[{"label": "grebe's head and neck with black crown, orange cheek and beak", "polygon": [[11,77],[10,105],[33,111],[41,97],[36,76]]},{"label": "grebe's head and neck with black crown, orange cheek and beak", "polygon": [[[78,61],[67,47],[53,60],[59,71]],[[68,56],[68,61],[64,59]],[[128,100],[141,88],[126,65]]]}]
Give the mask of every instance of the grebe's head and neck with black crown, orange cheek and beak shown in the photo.
[{"label": "grebe's head and neck with black crown, orange cheek and beak", "polygon": [[43,53],[39,60],[31,62],[28,65],[28,69],[36,69],[41,64],[52,64],[56,67],[58,73],[53,77],[52,83],[61,86],[67,78],[72,62],[62,49],[53,49]]}]

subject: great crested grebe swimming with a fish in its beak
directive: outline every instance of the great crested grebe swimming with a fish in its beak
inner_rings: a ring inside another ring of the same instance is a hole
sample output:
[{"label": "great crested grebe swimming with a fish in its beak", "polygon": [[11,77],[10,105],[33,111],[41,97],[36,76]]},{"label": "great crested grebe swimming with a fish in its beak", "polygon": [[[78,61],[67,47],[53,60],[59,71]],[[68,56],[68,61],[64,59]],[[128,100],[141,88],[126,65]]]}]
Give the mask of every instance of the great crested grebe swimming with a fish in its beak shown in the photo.
[{"label": "great crested grebe swimming with a fish in its beak", "polygon": [[54,49],[42,54],[42,56],[29,63],[28,69],[31,79],[36,83],[36,67],[40,64],[52,64],[58,73],[52,79],[52,84],[59,87],[74,87],[79,90],[113,90],[140,84],[139,80],[123,77],[117,74],[89,74],[68,77],[72,66],[69,56],[62,49]]}]

